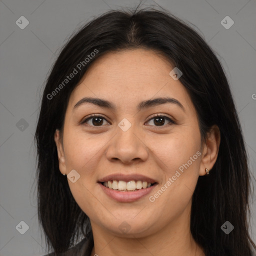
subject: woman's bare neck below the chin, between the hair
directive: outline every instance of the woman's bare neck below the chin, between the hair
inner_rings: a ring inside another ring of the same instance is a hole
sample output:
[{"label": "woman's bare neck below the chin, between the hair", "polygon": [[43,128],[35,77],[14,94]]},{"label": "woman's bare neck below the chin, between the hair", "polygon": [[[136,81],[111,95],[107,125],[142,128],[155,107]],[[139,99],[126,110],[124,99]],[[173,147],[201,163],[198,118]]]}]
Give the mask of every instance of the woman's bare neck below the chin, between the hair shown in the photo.
[{"label": "woman's bare neck below the chin, between the hair", "polygon": [[136,234],[129,238],[120,237],[91,222],[94,240],[91,256],[204,256],[202,248],[190,233],[189,208],[164,228],[143,237],[136,237]]}]

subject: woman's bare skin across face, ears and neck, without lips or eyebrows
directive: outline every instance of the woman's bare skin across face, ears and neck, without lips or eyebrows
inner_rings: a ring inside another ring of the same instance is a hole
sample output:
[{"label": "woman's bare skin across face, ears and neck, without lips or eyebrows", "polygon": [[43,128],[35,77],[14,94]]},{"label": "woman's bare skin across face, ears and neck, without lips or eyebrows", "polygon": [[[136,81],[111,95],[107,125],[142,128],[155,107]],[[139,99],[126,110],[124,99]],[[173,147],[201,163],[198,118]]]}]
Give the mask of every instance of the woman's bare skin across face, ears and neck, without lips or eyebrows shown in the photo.
[{"label": "woman's bare skin across face, ears and neck, without lips or eyebrows", "polygon": [[[93,62],[73,90],[63,130],[55,132],[59,169],[75,169],[80,178],[68,184],[80,208],[90,218],[94,237],[91,255],[204,255],[193,240],[189,224],[191,197],[199,175],[211,169],[217,158],[220,135],[217,126],[201,144],[195,108],[183,85],[169,72],[174,66],[152,50],[135,49],[107,53]],[[84,103],[83,97],[107,99],[116,110]],[[165,103],[137,110],[142,100],[173,97],[184,107]],[[153,114],[167,115],[157,125]],[[80,124],[90,114],[95,119]],[[126,118],[125,132],[118,123]],[[165,120],[165,121],[164,121]],[[178,167],[196,152],[201,154],[155,201],[154,195]],[[139,173],[158,182],[153,191],[134,202],[108,197],[97,183],[108,174]],[[126,221],[123,233],[118,227]]]}]

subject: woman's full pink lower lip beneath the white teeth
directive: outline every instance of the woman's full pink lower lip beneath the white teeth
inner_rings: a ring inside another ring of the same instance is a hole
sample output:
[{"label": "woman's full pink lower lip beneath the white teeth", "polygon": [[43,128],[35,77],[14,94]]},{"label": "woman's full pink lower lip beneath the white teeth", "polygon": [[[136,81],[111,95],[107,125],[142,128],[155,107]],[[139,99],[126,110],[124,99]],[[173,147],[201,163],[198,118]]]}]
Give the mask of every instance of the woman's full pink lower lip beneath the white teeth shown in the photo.
[{"label": "woman's full pink lower lip beneath the white teeth", "polygon": [[100,187],[103,189],[103,191],[108,195],[109,197],[115,199],[119,202],[133,202],[141,197],[147,195],[152,191],[152,189],[156,186],[156,184],[149,186],[147,188],[141,188],[136,191],[118,191],[111,188],[108,188],[101,183],[98,183]]}]

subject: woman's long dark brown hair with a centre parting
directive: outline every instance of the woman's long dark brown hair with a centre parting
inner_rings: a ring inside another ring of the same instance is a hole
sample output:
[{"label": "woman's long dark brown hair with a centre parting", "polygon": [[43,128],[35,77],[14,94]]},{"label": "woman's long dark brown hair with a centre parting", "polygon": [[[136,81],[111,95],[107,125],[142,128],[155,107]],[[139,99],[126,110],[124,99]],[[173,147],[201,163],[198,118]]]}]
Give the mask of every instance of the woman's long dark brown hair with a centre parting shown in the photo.
[{"label": "woman's long dark brown hair with a centre parting", "polygon": [[[256,246],[248,231],[247,152],[226,75],[216,53],[198,32],[168,11],[156,8],[111,10],[94,18],[68,39],[50,71],[35,132],[38,218],[48,251],[53,248],[55,253],[63,252],[75,244],[78,233],[86,236],[91,231],[87,215],[75,202],[58,167],[54,132],[63,127],[69,96],[96,58],[134,48],[159,52],[182,71],[179,81],[197,111],[202,139],[213,124],[220,130],[216,162],[209,175],[199,176],[192,195],[193,238],[207,256],[252,255]],[[97,54],[84,61],[95,49]],[[56,90],[74,68],[78,73]],[[229,234],[220,228],[225,221],[234,226]]]}]

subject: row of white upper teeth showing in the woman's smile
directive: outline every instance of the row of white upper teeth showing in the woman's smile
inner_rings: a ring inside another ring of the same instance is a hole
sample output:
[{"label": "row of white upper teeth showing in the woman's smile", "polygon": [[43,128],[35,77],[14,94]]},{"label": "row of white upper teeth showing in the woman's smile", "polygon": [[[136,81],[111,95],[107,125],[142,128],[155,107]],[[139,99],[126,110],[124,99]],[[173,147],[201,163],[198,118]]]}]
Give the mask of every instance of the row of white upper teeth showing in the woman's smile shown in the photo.
[{"label": "row of white upper teeth showing in the woman's smile", "polygon": [[151,186],[151,183],[147,183],[146,181],[128,181],[125,182],[123,180],[109,180],[106,182],[103,182],[103,185],[114,189],[114,190],[135,190],[135,189],[141,189]]}]

